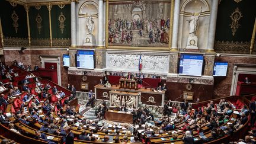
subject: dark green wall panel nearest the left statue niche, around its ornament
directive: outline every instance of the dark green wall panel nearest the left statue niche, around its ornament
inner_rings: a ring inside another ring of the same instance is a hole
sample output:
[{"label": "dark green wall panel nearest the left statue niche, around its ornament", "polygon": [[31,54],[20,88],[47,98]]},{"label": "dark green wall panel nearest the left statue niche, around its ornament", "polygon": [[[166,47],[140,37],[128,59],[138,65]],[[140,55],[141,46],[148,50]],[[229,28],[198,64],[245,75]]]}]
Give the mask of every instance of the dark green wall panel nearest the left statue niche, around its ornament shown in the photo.
[{"label": "dark green wall panel nearest the left statue niche, around its ornament", "polygon": [[[59,16],[60,14],[64,15],[65,21],[63,28],[63,33],[60,30],[60,21]],[[51,20],[52,20],[52,37],[61,39],[61,38],[69,38],[71,39],[71,7],[70,5],[65,5],[64,8],[59,8],[58,5],[53,5],[51,11]]]}]

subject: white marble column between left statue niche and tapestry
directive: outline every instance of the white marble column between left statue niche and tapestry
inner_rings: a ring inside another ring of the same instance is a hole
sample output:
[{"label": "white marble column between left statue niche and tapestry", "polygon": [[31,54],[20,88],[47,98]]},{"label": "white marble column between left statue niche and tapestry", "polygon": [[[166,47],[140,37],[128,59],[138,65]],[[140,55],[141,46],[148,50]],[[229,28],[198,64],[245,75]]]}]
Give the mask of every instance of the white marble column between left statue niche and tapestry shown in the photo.
[{"label": "white marble column between left statue niche and tapestry", "polygon": [[98,46],[103,46],[103,0],[98,1]]}]

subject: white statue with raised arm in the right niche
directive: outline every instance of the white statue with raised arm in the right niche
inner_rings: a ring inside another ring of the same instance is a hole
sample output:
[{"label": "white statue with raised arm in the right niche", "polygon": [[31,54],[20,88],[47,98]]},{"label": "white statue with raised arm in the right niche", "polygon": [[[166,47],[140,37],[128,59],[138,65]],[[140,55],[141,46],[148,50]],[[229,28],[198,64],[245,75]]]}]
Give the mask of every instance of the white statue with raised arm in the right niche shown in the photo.
[{"label": "white statue with raised arm in the right niche", "polygon": [[188,24],[189,24],[189,34],[190,36],[195,36],[196,32],[197,32],[197,28],[199,26],[199,18],[201,16],[201,11],[200,14],[198,16],[195,15],[195,13],[193,12],[193,14],[191,15],[190,19],[187,20]]}]

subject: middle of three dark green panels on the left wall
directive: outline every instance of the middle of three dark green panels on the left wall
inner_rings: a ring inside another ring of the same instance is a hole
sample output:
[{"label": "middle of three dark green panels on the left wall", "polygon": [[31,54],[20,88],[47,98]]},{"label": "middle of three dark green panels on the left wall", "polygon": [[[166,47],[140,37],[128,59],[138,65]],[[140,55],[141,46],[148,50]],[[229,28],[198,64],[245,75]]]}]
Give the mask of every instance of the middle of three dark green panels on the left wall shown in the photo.
[{"label": "middle of three dark green panels on the left wall", "polygon": [[[37,28],[36,18],[38,14],[41,17],[41,33],[39,33]],[[49,11],[45,5],[41,6],[39,10],[37,10],[35,7],[30,7],[29,19],[31,39],[50,38]]]}]

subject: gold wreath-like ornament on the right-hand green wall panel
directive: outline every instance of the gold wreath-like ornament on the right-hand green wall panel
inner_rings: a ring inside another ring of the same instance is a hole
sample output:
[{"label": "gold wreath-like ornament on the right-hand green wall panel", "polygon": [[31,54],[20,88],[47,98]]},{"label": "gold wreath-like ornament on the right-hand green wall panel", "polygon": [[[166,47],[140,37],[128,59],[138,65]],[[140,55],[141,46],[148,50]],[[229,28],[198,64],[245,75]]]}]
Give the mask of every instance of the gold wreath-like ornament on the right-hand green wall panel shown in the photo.
[{"label": "gold wreath-like ornament on the right-hand green wall panel", "polygon": [[242,13],[239,11],[239,8],[236,8],[235,11],[232,12],[231,16],[232,23],[229,24],[231,26],[232,35],[235,36],[236,30],[239,28],[241,24],[239,24],[240,18],[242,18]]}]

